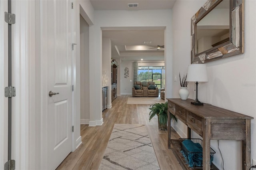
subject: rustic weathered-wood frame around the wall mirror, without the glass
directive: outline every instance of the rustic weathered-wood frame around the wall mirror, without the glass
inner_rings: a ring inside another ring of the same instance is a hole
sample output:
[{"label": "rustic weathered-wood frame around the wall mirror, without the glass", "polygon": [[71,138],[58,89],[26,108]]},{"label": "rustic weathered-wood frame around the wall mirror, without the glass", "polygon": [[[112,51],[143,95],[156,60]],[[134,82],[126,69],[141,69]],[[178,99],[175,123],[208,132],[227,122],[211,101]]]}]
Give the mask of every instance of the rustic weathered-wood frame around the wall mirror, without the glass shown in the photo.
[{"label": "rustic weathered-wood frame around the wall mirror, without the glass", "polygon": [[229,41],[195,54],[196,24],[222,0],[207,2],[191,18],[191,63],[206,63],[244,53],[244,0],[230,0]]}]

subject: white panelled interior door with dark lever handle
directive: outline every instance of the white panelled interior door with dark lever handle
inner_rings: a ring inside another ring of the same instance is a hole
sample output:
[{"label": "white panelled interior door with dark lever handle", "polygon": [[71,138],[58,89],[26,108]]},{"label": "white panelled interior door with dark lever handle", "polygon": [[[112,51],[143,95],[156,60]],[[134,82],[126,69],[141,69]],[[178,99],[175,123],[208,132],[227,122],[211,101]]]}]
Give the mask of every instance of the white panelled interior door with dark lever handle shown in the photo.
[{"label": "white panelled interior door with dark lever handle", "polygon": [[[72,20],[70,0],[43,0],[42,45],[46,58],[46,162],[55,169],[72,151]],[[42,61],[41,61],[42,62]],[[44,73],[43,73],[44,74]]]}]

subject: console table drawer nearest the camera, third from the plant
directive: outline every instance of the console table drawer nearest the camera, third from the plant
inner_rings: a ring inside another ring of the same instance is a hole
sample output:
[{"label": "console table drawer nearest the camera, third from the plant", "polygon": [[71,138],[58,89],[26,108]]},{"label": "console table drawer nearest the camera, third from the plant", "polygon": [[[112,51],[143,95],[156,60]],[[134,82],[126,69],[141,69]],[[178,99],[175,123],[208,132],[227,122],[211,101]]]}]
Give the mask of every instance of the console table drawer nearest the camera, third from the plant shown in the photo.
[{"label": "console table drawer nearest the camera, third from the plant", "polygon": [[192,130],[194,130],[197,134],[202,136],[202,134],[203,134],[203,131],[202,131],[202,117],[199,117],[198,115],[195,115],[194,113],[191,113],[190,111],[187,111],[186,124]]}]

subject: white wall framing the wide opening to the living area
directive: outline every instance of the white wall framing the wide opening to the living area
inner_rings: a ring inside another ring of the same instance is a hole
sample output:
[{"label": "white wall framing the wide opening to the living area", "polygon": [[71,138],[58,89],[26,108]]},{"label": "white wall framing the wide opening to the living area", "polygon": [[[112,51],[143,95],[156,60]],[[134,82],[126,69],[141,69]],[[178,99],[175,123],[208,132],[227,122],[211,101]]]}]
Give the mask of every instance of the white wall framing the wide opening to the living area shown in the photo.
[{"label": "white wall framing the wide opening to the living area", "polygon": [[[161,16],[160,18],[158,16]],[[139,11],[95,11],[94,15],[94,25],[90,26],[90,71],[92,71],[92,77],[90,77],[90,82],[94,83],[95,89],[92,90],[94,97],[92,97],[92,110],[90,107],[90,118],[92,117],[97,122],[102,121],[102,111],[101,103],[101,75],[102,69],[98,69],[98,65],[102,65],[102,30],[105,28],[127,28],[132,29],[144,27],[144,29],[152,27],[166,28],[165,30],[165,57],[166,61],[172,60],[172,27],[171,27],[171,17],[172,10],[139,10]],[[172,69],[170,66],[169,72],[170,76],[167,77],[169,81],[172,79]],[[122,68],[120,68],[122,69]],[[168,82],[168,81],[167,81]],[[171,84],[171,83],[170,83]],[[169,86],[169,97],[172,95],[170,90],[172,85]],[[91,96],[91,94],[90,94]]]}]

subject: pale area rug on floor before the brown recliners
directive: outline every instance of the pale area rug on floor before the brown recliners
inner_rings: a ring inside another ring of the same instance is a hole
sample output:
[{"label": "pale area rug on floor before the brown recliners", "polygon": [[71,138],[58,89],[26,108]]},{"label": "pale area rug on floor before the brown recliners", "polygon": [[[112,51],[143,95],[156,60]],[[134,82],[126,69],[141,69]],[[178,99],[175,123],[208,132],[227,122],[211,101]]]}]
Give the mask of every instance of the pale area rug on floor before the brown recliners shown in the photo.
[{"label": "pale area rug on floor before the brown recliners", "polygon": [[127,104],[154,104],[164,103],[160,97],[128,97]]}]

